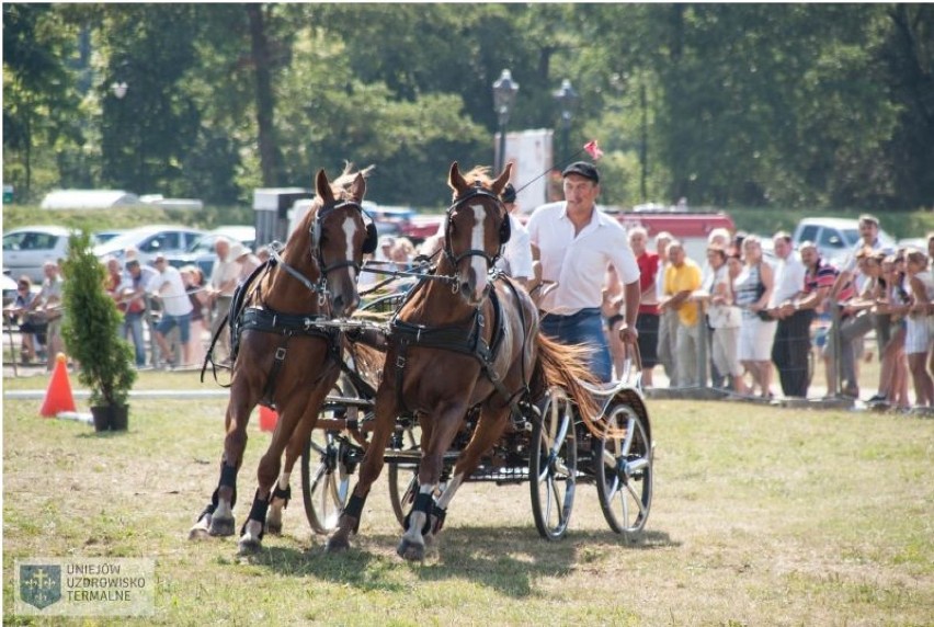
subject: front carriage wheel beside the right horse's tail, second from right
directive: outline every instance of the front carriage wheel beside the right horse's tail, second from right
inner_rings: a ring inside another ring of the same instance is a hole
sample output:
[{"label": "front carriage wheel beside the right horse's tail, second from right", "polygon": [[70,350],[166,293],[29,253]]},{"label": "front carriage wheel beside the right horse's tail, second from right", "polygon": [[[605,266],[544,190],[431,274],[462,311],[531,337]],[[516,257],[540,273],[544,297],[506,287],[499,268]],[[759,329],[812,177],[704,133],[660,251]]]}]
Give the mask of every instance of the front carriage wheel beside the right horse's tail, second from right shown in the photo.
[{"label": "front carriage wheel beside the right horse's tail, second from right", "polygon": [[573,406],[561,388],[548,390],[542,419],[532,429],[532,513],[542,537],[556,540],[568,529],[578,472]]}]

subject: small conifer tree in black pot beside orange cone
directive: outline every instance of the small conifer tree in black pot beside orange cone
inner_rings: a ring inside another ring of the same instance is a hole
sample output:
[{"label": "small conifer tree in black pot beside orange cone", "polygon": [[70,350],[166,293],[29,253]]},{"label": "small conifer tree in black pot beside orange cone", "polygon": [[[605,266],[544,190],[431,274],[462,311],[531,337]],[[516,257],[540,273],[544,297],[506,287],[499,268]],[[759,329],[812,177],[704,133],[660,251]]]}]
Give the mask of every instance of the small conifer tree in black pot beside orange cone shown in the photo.
[{"label": "small conifer tree in black pot beside orange cone", "polygon": [[106,271],[88,231],[69,238],[62,273],[61,333],[68,354],[79,364],[78,380],[90,388],[94,429],[126,430],[127,398],[136,380],[133,349],[119,337],[121,314],[104,287]]}]

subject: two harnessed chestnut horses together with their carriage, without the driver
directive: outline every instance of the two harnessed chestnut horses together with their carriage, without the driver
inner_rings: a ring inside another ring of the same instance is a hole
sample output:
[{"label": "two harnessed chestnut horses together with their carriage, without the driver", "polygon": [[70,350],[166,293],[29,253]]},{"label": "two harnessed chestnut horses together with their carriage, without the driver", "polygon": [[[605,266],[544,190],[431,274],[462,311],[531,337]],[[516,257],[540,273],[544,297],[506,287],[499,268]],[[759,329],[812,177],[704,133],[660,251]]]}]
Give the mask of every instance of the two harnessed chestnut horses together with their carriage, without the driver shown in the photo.
[{"label": "two harnessed chestnut horses together with their carriage, without the driver", "polygon": [[538,333],[529,295],[490,272],[510,238],[499,196],[510,174],[508,166],[493,181],[477,170],[465,176],[452,164],[454,203],[434,274],[418,275],[403,298],[384,299],[391,317],[376,323],[348,318],[360,303],[362,254],[376,247],[363,176],[345,172],[335,185],[318,173],[312,210],[235,295],[239,347],[219,481],[191,539],[234,534],[246,425],[260,402],[278,409],[280,421],[260,460],[241,552],[281,531],[299,458],[306,512],[330,533],[329,550],[350,546],[387,464],[405,559],[423,559],[465,481],[528,482],[536,527],[549,539],[566,533],[577,483],[586,481],[611,528],[643,528],[652,440],[638,378],[589,383],[586,349]]}]

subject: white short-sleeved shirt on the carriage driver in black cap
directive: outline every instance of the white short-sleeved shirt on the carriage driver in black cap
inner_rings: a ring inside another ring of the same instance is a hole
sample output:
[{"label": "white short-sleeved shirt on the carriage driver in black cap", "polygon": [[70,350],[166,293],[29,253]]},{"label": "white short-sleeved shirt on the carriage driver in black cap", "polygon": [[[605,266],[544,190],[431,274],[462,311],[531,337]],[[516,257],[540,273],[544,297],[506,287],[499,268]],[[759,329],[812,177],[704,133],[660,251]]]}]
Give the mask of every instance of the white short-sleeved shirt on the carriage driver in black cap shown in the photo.
[{"label": "white short-sleeved shirt on the carriage driver in black cap", "polygon": [[610,264],[624,285],[639,281],[639,266],[626,229],[599,207],[577,236],[563,201],[535,209],[526,228],[540,251],[542,278],[558,283],[539,304],[545,311],[569,316],[600,307]]}]

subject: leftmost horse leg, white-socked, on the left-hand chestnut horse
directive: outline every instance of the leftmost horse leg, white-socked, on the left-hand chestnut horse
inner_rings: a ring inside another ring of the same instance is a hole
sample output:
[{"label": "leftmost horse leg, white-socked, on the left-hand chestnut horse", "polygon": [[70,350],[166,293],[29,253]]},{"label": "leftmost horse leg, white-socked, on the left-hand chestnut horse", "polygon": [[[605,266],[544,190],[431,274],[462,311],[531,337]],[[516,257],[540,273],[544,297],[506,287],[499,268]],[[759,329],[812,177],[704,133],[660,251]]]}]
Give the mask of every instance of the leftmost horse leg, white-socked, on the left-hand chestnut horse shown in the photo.
[{"label": "leftmost horse leg, white-socked, on the left-hand chestnut horse", "polygon": [[234,535],[234,505],[237,502],[237,472],[243,461],[247,448],[247,424],[255,401],[237,401],[249,398],[249,389],[239,386],[231,389],[227,403],[224,440],[224,454],[220,457],[220,479],[210,497],[210,502],[198,515],[197,522],[189,531],[189,539],[205,539],[208,536]]}]

